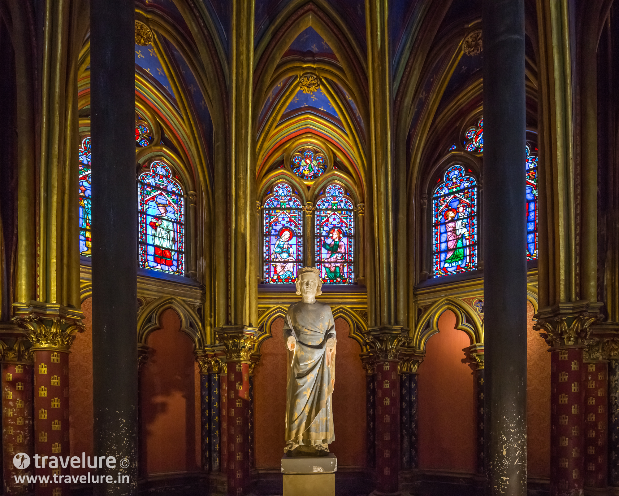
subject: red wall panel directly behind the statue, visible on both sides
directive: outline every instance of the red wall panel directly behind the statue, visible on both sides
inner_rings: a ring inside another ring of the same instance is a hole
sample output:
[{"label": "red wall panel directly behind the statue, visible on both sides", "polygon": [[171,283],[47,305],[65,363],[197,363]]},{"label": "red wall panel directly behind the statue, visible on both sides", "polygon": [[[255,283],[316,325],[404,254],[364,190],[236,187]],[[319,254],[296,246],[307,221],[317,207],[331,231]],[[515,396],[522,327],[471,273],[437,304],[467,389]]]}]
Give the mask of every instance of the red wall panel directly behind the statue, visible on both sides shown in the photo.
[{"label": "red wall panel directly behind the statue, visible on both sides", "polygon": [[[279,469],[284,454],[286,407],[286,350],[282,330],[284,319],[271,326],[273,339],[260,348],[261,359],[254,378],[256,467]],[[365,371],[357,342],[348,338],[344,319],[335,319],[337,355],[333,417],[335,441],[329,449],[339,467],[365,467]]]}]

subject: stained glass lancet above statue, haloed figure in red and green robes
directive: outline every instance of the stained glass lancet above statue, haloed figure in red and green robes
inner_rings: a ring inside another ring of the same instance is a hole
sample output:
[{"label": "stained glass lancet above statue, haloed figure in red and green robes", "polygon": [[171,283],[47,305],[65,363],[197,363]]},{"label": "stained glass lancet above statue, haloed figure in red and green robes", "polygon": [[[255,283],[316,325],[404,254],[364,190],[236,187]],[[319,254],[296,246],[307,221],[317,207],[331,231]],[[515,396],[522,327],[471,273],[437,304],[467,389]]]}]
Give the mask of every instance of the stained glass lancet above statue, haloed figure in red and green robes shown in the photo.
[{"label": "stained glass lancet above statue, haloed figure in red and green robes", "polygon": [[316,202],[316,267],[323,283],[353,284],[355,219],[344,188],[331,184]]}]

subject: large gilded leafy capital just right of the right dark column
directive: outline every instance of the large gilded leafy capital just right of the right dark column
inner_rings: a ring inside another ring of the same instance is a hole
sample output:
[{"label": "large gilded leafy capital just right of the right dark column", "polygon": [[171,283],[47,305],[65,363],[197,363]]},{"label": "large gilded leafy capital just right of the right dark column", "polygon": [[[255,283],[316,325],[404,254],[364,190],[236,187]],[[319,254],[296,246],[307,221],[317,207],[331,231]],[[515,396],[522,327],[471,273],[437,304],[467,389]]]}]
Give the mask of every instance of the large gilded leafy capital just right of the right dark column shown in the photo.
[{"label": "large gilded leafy capital just right of the right dark column", "polygon": [[602,320],[602,303],[573,301],[540,309],[534,318],[534,330],[550,347],[584,345],[591,334],[591,325]]}]

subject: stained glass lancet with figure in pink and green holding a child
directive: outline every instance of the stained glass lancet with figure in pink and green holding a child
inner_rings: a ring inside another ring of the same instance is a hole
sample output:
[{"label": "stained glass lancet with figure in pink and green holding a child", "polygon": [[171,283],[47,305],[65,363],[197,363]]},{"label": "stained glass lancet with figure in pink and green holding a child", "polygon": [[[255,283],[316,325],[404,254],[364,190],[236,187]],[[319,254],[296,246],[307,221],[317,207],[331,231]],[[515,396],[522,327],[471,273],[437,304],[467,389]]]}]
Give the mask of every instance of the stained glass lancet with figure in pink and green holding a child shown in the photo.
[{"label": "stained glass lancet with figure in pink and green holding a child", "polygon": [[[470,171],[469,171],[470,172]],[[452,166],[432,198],[435,277],[477,268],[477,184]]]}]

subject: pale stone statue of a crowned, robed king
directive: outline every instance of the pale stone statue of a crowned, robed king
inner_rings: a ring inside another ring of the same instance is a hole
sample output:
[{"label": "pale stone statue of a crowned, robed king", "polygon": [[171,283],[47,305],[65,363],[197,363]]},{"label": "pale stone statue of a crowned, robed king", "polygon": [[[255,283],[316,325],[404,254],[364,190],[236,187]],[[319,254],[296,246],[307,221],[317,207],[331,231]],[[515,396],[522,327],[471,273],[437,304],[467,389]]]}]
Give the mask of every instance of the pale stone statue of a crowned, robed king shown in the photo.
[{"label": "pale stone statue of a crowned, robed king", "polygon": [[297,278],[301,301],[288,307],[284,324],[288,348],[284,451],[288,455],[326,455],[335,439],[335,323],[331,307],[316,301],[321,286],[317,268],[301,268]]}]

